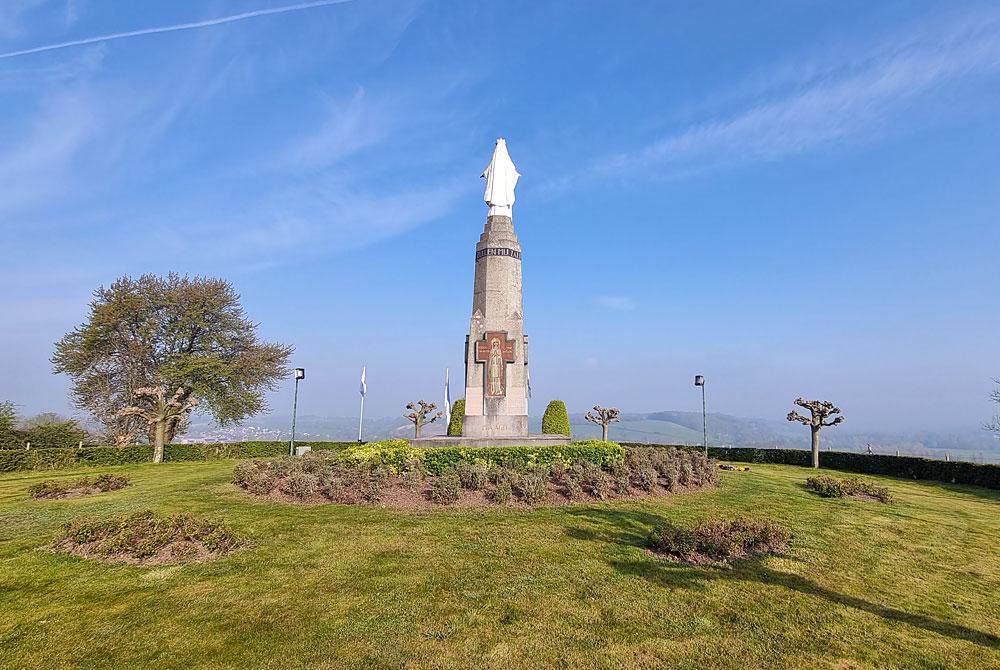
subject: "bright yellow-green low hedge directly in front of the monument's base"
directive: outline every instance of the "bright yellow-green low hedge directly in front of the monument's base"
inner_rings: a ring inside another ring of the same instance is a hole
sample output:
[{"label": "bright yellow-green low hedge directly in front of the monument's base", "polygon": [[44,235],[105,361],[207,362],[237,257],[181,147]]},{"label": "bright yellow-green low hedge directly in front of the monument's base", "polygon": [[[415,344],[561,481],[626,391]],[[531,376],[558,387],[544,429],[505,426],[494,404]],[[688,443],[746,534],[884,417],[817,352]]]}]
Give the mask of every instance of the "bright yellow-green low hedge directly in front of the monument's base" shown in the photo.
[{"label": "bright yellow-green low hedge directly in front of the monument's base", "polygon": [[453,468],[460,461],[488,463],[507,468],[527,468],[532,465],[549,465],[556,461],[572,463],[590,461],[609,465],[625,458],[625,449],[615,442],[587,440],[546,447],[411,447],[406,440],[386,440],[357,445],[343,452],[348,461],[365,462],[386,468],[394,474],[402,471],[407,462],[419,460],[432,475],[439,475]]}]

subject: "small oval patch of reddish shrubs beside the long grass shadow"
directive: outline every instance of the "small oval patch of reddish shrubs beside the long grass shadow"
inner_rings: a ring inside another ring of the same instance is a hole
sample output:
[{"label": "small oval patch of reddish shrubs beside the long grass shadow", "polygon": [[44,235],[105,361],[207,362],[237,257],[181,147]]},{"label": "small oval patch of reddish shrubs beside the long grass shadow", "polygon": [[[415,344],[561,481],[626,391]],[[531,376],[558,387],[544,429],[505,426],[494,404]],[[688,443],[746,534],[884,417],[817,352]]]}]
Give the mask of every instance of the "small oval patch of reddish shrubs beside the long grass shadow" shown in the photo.
[{"label": "small oval patch of reddish shrubs beside the long grass shadow", "polygon": [[728,562],[780,554],[791,539],[791,531],[771,521],[703,519],[687,526],[667,524],[652,534],[650,548],[684,561]]}]

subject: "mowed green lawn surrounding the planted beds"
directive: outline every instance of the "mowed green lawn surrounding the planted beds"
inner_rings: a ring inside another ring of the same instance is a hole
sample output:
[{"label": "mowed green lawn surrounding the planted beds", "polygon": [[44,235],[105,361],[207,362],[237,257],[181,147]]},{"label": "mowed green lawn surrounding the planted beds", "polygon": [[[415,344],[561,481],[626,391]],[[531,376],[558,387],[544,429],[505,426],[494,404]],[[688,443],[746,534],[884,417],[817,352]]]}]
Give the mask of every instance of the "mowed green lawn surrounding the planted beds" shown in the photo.
[{"label": "mowed green lawn surrounding the planted beds", "polygon": [[[0,477],[2,668],[1000,668],[1000,495],[877,478],[823,499],[755,466],[717,491],[539,510],[257,502],[233,462],[109,470],[132,485],[35,501]],[[188,511],[254,547],[180,567],[44,549],[62,523]],[[787,556],[731,569],[645,551],[668,519],[779,520]]]}]

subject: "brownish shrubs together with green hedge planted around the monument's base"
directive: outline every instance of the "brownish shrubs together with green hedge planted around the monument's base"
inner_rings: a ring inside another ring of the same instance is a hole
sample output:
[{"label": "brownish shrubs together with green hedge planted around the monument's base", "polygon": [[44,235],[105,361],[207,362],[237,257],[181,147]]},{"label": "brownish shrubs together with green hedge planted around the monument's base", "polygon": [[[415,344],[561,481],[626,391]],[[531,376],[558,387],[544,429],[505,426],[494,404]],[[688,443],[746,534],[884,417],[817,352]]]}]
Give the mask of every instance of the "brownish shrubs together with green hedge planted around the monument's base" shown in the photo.
[{"label": "brownish shrubs together with green hedge planted around the monument's base", "polygon": [[[436,450],[410,449],[400,440],[380,446],[362,445],[341,454],[245,461],[233,469],[233,483],[253,495],[277,493],[298,500],[377,503],[395,487],[419,492],[424,499],[442,504],[457,502],[463,491],[480,491],[480,500],[498,504],[512,499],[536,504],[550,495],[607,500],[717,482],[715,462],[702,453],[679,449],[626,451],[614,446],[621,458],[608,461],[600,449],[583,452],[596,454],[596,460],[586,460],[557,458],[547,451],[549,447],[535,448],[533,451],[544,452],[548,459],[541,463],[542,455],[529,454],[527,447],[496,447],[489,451],[469,450],[469,459],[452,462],[434,454]],[[504,450],[510,454],[502,456]],[[489,458],[477,458],[484,451]]]}]

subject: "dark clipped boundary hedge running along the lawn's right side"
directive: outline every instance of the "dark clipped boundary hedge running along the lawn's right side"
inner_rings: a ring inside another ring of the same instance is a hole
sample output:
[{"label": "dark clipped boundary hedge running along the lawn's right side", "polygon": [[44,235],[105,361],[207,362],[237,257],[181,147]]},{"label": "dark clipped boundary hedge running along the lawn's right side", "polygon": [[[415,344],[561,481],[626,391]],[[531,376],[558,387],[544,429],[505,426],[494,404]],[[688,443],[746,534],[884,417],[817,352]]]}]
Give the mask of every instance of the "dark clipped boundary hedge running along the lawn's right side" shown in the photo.
[{"label": "dark clipped boundary hedge running along the lawn's right side", "polygon": [[[627,445],[660,447],[665,445]],[[699,449],[700,447],[678,446]],[[721,461],[738,463],[776,463],[810,467],[812,454],[804,449],[760,449],[756,447],[709,447],[709,456]],[[969,463],[966,461],[939,461],[918,456],[893,456],[889,454],[863,454],[849,451],[824,451],[820,465],[830,470],[856,472],[869,475],[886,475],[905,479],[924,479],[947,484],[970,484],[988,489],[1000,489],[1000,465]]]}]

